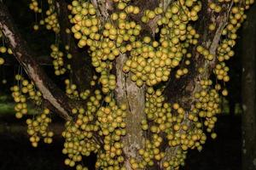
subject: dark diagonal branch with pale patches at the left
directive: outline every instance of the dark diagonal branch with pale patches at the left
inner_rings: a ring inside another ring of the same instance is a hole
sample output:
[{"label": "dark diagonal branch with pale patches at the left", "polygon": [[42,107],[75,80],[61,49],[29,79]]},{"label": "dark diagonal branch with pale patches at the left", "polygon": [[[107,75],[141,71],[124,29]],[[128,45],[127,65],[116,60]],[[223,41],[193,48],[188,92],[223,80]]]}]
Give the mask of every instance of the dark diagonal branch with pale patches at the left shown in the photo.
[{"label": "dark diagonal branch with pale patches at the left", "polygon": [[71,120],[72,117],[69,116],[69,113],[75,104],[67,98],[67,95],[60,88],[56,87],[55,83],[47,77],[44,70],[38,65],[38,62],[34,59],[35,53],[21,37],[18,28],[15,27],[14,21],[9,14],[8,8],[3,3],[0,3],[0,29],[3,31],[3,35],[6,37],[15,58],[43,94],[43,98],[63,118]]}]

